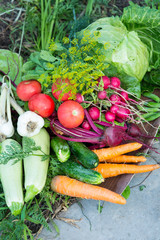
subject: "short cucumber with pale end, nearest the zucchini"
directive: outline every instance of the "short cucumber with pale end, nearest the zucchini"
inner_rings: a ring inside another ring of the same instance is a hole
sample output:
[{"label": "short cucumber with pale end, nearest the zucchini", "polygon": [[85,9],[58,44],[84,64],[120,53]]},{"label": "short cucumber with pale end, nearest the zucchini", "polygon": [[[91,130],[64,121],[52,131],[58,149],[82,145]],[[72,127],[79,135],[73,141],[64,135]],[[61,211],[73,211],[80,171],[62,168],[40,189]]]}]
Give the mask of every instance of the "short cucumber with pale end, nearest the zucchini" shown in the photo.
[{"label": "short cucumber with pale end, nearest the zucchini", "polygon": [[66,162],[70,157],[70,147],[64,139],[60,137],[54,137],[51,140],[51,148],[55,152],[60,162]]}]

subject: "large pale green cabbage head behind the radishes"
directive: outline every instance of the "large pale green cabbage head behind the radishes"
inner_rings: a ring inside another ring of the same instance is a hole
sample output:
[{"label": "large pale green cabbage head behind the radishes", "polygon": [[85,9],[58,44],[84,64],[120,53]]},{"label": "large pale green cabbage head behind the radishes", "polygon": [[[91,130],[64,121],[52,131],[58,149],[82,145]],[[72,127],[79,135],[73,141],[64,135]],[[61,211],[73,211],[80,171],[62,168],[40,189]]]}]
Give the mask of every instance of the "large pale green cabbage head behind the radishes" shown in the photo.
[{"label": "large pale green cabbage head behind the radishes", "polygon": [[[131,19],[129,11],[126,15],[127,18],[122,17],[126,25],[133,21],[132,19],[135,22],[138,19],[138,16],[137,19],[133,16]],[[103,46],[107,44],[107,47],[102,49],[105,61],[110,64],[106,70],[107,76],[112,77],[113,74],[118,76],[122,87],[140,97],[140,82],[149,67],[149,52],[137,32],[133,31],[134,27],[129,32],[122,21],[117,16],[100,18],[77,33],[77,36],[81,39],[87,31],[90,36],[87,38],[88,41],[94,39]]]}]

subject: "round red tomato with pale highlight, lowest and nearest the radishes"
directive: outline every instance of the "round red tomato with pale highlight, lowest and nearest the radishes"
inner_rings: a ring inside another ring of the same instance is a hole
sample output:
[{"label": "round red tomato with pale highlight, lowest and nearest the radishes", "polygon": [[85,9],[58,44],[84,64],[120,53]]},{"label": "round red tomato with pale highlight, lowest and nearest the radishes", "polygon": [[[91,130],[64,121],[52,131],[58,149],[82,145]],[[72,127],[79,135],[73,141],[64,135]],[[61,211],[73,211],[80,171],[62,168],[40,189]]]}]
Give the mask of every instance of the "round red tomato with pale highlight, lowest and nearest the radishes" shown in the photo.
[{"label": "round red tomato with pale highlight, lowest and nearest the radishes", "polygon": [[76,101],[68,100],[58,108],[58,119],[66,128],[78,127],[84,120],[84,109]]}]

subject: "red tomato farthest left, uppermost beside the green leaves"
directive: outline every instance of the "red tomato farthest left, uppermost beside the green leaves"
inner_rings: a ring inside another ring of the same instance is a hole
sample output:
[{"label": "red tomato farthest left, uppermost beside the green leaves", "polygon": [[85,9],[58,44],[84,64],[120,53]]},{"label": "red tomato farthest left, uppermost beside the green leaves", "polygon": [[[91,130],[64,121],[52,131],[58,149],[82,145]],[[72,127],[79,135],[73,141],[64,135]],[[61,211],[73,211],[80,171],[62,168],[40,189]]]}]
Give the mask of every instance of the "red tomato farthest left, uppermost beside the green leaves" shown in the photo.
[{"label": "red tomato farthest left, uppermost beside the green leaves", "polygon": [[16,91],[22,101],[28,101],[33,95],[41,92],[41,84],[37,80],[22,81]]}]

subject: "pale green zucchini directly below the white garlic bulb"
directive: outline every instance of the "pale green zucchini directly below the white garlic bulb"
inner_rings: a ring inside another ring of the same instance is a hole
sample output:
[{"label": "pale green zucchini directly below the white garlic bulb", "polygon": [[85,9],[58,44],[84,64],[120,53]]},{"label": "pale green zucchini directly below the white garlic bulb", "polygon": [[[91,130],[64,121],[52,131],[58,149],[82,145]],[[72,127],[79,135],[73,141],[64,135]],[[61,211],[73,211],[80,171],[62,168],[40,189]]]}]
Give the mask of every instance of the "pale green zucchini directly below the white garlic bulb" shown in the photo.
[{"label": "pale green zucchini directly below the white garlic bulb", "polygon": [[[33,151],[33,154],[25,157],[24,162],[24,186],[26,189],[25,201],[33,199],[35,195],[42,191],[48,171],[49,157],[42,161],[44,154],[50,154],[50,136],[48,132],[42,128],[37,135],[31,137],[36,146],[41,150]],[[23,144],[23,142],[22,142]],[[25,146],[23,145],[23,148]]]}]

